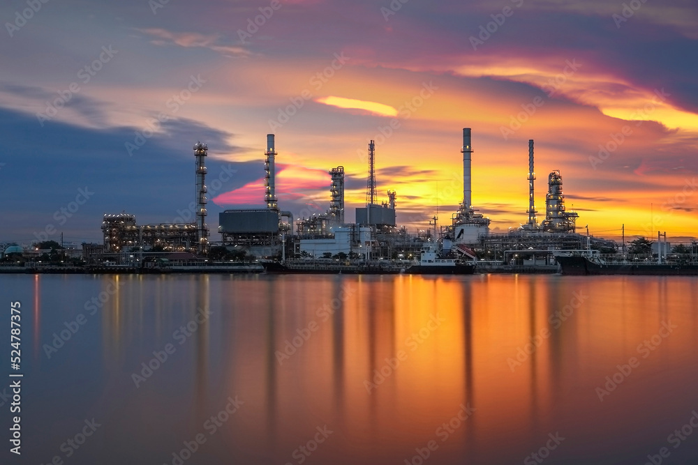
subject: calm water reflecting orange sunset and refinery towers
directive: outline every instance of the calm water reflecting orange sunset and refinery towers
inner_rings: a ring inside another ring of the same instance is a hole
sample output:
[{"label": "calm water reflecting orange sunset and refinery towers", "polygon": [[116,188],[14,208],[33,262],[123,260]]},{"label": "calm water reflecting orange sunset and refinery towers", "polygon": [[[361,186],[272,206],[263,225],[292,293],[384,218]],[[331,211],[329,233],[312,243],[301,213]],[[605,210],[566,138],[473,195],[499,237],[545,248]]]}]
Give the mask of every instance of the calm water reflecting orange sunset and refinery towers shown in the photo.
[{"label": "calm water reflecting orange sunset and refinery towers", "polygon": [[0,297],[24,372],[1,463],[698,463],[695,277],[2,275]]}]

